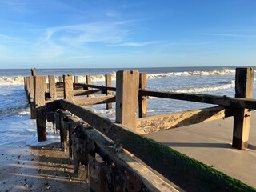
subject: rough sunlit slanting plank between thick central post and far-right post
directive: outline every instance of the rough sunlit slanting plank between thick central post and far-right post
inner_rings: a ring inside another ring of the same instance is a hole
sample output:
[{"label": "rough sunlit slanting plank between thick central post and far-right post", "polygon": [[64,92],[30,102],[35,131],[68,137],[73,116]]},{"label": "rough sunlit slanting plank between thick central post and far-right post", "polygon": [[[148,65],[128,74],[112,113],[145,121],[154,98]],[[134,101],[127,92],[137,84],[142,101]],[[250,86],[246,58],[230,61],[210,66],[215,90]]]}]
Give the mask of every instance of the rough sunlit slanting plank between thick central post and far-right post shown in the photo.
[{"label": "rough sunlit slanting plank between thick central post and far-right post", "polygon": [[199,122],[210,122],[230,116],[230,110],[226,110],[224,106],[215,106],[201,110],[188,110],[171,114],[158,114],[146,118],[138,118],[136,131],[139,134],[148,134]]}]

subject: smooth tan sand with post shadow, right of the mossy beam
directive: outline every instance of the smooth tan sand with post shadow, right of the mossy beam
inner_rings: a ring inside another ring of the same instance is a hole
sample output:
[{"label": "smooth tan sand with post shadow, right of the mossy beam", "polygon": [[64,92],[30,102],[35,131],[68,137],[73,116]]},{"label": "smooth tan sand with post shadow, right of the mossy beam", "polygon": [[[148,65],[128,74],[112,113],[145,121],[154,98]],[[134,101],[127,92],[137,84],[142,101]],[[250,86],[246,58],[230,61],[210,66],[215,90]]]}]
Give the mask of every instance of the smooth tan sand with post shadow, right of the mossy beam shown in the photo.
[{"label": "smooth tan sand with post shadow, right of the mossy beam", "polygon": [[146,134],[182,154],[256,187],[256,112],[246,150],[232,148],[233,117]]}]

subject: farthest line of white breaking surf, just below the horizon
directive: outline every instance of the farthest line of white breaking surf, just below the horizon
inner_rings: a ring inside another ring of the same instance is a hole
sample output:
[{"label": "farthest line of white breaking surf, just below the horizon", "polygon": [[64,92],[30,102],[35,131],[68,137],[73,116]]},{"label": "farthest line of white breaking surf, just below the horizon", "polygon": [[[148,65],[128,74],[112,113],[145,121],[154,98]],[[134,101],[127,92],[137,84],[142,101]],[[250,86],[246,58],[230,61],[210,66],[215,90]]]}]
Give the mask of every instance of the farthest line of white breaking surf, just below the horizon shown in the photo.
[{"label": "farthest line of white breaking surf, just below the horizon", "polygon": [[[183,72],[169,72],[162,74],[147,74],[148,79],[153,78],[166,78],[166,77],[180,77],[180,76],[207,76],[207,75],[229,75],[235,74],[235,70],[210,70],[210,71],[183,71]],[[105,75],[91,75],[92,82],[105,82]],[[112,73],[112,80],[116,80],[115,73]],[[55,77],[55,81],[58,81],[58,76]],[[46,82],[48,78],[46,77]],[[78,82],[85,83],[86,75],[78,76]],[[24,78],[18,77],[0,77],[0,86],[21,86],[24,84]]]}]

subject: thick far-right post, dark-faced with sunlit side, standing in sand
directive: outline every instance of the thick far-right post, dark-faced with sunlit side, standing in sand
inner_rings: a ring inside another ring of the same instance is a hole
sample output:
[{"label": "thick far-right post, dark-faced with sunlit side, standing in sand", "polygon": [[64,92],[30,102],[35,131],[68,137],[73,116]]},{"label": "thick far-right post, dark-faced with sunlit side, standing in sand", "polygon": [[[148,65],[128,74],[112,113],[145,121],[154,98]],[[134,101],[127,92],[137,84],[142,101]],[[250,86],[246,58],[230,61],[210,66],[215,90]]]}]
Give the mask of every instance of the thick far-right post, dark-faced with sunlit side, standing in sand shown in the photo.
[{"label": "thick far-right post, dark-faced with sunlit side, standing in sand", "polygon": [[[254,69],[237,68],[235,74],[235,98],[253,98]],[[234,110],[232,146],[239,150],[248,146],[250,130],[250,109]]]}]

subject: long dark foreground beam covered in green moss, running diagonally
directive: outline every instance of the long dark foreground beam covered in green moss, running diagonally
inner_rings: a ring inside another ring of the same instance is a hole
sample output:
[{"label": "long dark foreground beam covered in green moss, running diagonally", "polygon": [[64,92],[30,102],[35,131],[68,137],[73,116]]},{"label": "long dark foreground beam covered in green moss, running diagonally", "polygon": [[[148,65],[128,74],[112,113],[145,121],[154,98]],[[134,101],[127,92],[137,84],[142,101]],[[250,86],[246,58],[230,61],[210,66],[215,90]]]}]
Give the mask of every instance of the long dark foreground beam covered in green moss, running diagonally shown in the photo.
[{"label": "long dark foreground beam covered in green moss, running diagonally", "polygon": [[121,143],[126,150],[129,150],[142,159],[143,162],[146,162],[148,166],[178,186],[186,188],[188,187],[187,184],[189,184],[189,187],[194,187],[194,190],[200,186],[205,191],[226,191],[226,189],[229,189],[228,191],[237,191],[238,189],[241,191],[254,191],[242,182],[230,178],[210,166],[180,154],[150,138],[136,134],[134,131],[113,123],[108,118],[102,118],[100,115],[83,109],[81,106],[75,106],[71,102],[64,100],[55,101],[54,103],[57,108],[69,110],[70,113],[82,118],[95,129],[101,131],[102,134],[117,143]]}]

